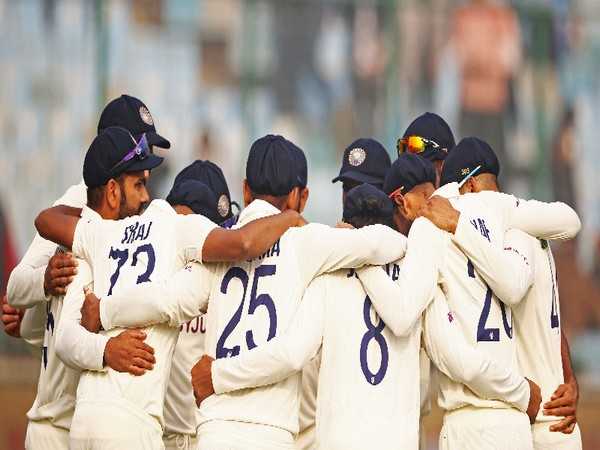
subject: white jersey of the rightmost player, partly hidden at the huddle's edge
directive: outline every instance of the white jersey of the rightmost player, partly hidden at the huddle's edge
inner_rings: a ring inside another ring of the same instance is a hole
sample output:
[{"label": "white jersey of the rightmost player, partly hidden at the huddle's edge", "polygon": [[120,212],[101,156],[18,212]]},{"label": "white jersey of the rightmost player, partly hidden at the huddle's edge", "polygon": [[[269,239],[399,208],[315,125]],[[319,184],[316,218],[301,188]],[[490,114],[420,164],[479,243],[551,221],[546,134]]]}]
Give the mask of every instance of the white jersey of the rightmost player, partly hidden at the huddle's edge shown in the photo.
[{"label": "white jersey of the rightmost player, partly hidden at the huddle's edge", "polygon": [[[560,302],[554,257],[547,241],[533,242],[535,279],[521,303],[513,308],[517,335],[517,356],[523,375],[542,390],[542,403],[564,383],[561,358]],[[556,421],[543,408],[536,421]]]}]

